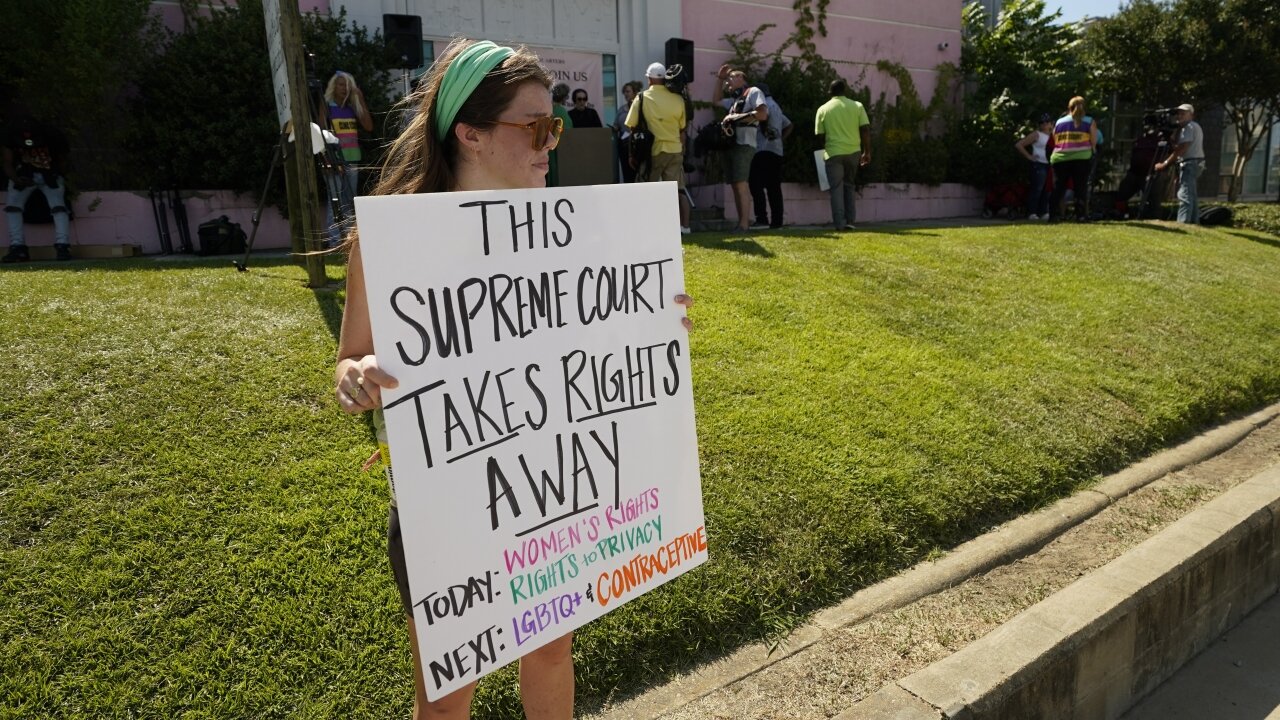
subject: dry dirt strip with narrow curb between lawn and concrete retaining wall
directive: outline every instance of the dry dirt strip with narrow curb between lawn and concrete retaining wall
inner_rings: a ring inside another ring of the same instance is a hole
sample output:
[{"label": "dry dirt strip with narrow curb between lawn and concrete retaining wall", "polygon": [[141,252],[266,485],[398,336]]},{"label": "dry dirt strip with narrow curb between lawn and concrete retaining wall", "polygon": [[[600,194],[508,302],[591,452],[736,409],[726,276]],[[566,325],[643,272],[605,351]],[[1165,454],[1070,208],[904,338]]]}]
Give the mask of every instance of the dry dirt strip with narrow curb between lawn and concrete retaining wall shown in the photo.
[{"label": "dry dirt strip with narrow curb between lawn and concrete retaining wall", "polygon": [[586,716],[845,716],[881,688],[1002,630],[1029,607],[1275,465],[1280,460],[1277,414],[1280,405],[1208,430],[970,541],[940,561],[867,588],[818,614],[781,648],[746,647]]}]

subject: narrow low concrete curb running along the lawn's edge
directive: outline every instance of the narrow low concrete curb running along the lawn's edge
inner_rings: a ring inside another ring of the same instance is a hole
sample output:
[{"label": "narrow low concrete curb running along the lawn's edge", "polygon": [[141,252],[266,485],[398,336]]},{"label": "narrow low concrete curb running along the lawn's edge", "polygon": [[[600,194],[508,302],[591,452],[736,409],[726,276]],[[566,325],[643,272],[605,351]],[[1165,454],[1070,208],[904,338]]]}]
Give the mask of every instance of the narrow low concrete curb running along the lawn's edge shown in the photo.
[{"label": "narrow low concrete curb running along the lawn's edge", "polygon": [[[1064,532],[1088,520],[1116,500],[1169,473],[1229,450],[1276,416],[1280,416],[1280,402],[1213,428],[1178,447],[1157,452],[1147,460],[1108,475],[1093,488],[1080,491],[1043,510],[1011,520],[974,538],[940,560],[922,562],[900,575],[859,591],[845,602],[818,612],[813,620],[792,632],[777,648],[771,650],[763,643],[748,646],[689,675],[618,703],[608,712],[600,714],[598,720],[658,717],[786,660],[818,642],[827,630],[860,623],[879,612],[897,610],[922,597],[963,583],[979,573],[1024,557],[1048,544]],[[864,703],[870,700],[867,698]],[[868,715],[868,717],[870,716],[874,715]],[[892,715],[881,716],[891,717]],[[932,717],[937,719],[937,711],[933,711]]]}]

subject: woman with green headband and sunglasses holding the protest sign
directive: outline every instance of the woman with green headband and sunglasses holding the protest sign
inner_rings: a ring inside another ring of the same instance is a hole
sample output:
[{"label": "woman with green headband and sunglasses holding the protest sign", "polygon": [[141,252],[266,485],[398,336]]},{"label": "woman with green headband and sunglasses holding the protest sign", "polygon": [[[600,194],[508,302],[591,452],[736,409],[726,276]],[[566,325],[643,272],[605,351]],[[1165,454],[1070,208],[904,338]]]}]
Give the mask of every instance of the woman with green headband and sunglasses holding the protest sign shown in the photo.
[{"label": "woman with green headband and sunglasses holding the protest sign", "polygon": [[[538,58],[524,47],[456,40],[408,97],[417,111],[390,146],[374,195],[544,187],[548,152],[556,147],[562,129],[552,113],[550,79]],[[347,305],[338,343],[335,392],[344,411],[374,410],[375,424],[381,427],[381,391],[396,388],[397,380],[379,369],[374,356],[356,232],[348,236],[347,247]],[[692,301],[681,295],[676,302],[689,306]],[[682,322],[690,327],[687,318]],[[436,701],[426,698],[394,487],[388,552],[413,650],[413,717],[467,717],[475,683]],[[572,717],[571,651],[572,633],[521,659],[520,689],[527,717]]]}]

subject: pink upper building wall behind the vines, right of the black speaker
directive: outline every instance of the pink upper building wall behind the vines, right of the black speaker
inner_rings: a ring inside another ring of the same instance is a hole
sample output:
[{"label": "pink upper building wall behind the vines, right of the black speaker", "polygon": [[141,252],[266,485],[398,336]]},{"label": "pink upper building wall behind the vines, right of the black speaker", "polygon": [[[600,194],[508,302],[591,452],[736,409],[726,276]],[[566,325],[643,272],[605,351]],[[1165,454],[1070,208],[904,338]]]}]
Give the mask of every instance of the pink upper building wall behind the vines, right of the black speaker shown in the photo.
[{"label": "pink upper building wall behind the vines, right of the black speaker", "polygon": [[[817,5],[817,1],[814,1]],[[815,37],[818,53],[832,61],[854,87],[868,86],[872,99],[883,91],[897,95],[897,83],[876,69],[879,60],[900,63],[911,73],[920,100],[928,102],[937,85],[934,67],[960,63],[959,0],[831,0],[827,36]],[[792,0],[685,0],[681,4],[684,36],[694,41],[694,83],[690,92],[709,99],[716,70],[733,50],[723,36],[750,35],[773,23],[760,36],[758,50],[768,54],[795,31]],[[796,55],[795,50],[787,53]],[[783,110],[786,110],[783,108]]]}]

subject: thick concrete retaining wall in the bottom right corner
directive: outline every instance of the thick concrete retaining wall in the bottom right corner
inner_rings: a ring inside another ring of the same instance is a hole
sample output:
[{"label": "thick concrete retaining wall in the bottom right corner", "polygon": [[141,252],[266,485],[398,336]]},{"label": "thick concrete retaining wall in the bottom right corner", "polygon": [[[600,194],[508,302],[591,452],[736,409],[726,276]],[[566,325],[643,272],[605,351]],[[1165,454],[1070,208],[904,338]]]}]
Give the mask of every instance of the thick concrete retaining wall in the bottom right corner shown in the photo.
[{"label": "thick concrete retaining wall in the bottom right corner", "polygon": [[836,720],[1111,720],[1277,589],[1280,464]]}]

